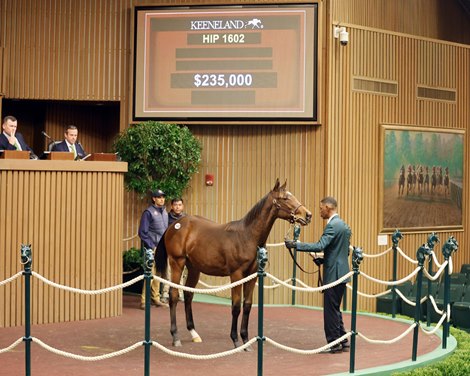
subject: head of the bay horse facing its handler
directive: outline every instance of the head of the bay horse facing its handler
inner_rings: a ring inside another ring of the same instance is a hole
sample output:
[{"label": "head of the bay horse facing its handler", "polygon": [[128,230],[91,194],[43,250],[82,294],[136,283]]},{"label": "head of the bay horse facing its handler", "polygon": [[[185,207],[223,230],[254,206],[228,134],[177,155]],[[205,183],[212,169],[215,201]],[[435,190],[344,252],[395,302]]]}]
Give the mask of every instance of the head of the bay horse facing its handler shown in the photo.
[{"label": "head of the bay horse facing its handler", "polygon": [[279,179],[277,179],[271,191],[273,205],[277,209],[277,217],[305,226],[310,223],[312,213],[292,193],[286,190],[286,183],[281,186]]}]

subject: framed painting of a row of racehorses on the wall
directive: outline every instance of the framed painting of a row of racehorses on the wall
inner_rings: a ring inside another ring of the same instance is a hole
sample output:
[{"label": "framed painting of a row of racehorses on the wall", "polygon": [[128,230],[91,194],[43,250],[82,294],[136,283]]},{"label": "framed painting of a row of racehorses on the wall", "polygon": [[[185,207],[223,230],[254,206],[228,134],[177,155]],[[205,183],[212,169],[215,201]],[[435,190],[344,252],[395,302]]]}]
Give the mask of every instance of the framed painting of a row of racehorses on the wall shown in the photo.
[{"label": "framed painting of a row of racehorses on the wall", "polygon": [[382,232],[463,230],[465,132],[382,125]]}]

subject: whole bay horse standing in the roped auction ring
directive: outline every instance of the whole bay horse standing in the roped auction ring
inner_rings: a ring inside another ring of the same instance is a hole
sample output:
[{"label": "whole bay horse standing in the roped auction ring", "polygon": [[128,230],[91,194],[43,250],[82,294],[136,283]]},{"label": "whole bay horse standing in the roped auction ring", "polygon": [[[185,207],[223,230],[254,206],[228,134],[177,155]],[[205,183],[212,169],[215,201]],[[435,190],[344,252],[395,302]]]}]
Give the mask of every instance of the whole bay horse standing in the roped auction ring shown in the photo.
[{"label": "whole bay horse standing in the roped auction ring", "polygon": [[[295,196],[282,186],[279,179],[274,188],[266,194],[240,220],[218,224],[200,216],[185,216],[168,227],[156,251],[157,271],[165,275],[166,267],[171,268],[171,281],[179,284],[184,266],[188,269],[185,286],[195,287],[200,273],[212,276],[230,276],[230,281],[239,281],[257,271],[257,249],[265,246],[268,235],[277,218],[291,223],[307,225],[312,213]],[[167,262],[167,260],[169,262]],[[243,315],[240,337],[248,342],[248,320],[250,316],[253,289],[256,278],[243,284]],[[192,300],[194,293],[184,292],[186,327],[193,342],[201,342],[195,331]],[[235,347],[238,340],[238,317],[241,312],[242,286],[232,288],[232,326],[230,338]],[[178,289],[170,289],[170,333],[173,346],[181,346],[176,326]]]}]

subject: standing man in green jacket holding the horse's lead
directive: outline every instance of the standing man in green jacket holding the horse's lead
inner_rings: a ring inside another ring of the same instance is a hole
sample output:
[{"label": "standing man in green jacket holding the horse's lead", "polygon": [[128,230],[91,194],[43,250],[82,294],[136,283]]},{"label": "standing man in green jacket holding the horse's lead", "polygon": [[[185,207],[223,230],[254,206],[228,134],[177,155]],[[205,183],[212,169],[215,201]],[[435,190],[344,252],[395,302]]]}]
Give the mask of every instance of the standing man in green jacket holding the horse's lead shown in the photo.
[{"label": "standing man in green jacket holding the horse's lead", "polygon": [[[298,251],[324,252],[323,283],[329,284],[349,273],[349,241],[351,229],[339,217],[337,202],[333,197],[325,197],[320,201],[320,216],[327,220],[320,240],[316,243],[301,243],[292,240],[286,241],[288,248],[297,248]],[[346,334],[340,306],[344,295],[346,283],[342,283],[324,290],[323,321],[325,336],[328,343],[337,340]],[[331,347],[331,353],[338,353],[349,348],[348,340]]]}]

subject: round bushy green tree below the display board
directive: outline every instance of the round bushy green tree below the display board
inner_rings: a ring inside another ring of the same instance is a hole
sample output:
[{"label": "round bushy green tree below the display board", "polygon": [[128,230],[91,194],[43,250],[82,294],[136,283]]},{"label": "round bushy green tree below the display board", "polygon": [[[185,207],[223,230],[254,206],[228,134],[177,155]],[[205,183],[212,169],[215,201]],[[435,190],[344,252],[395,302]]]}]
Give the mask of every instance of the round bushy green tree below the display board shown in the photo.
[{"label": "round bushy green tree below the display board", "polygon": [[201,161],[200,141],[185,126],[146,121],[116,138],[114,151],[128,163],[124,181],[141,196],[157,188],[180,197]]}]

